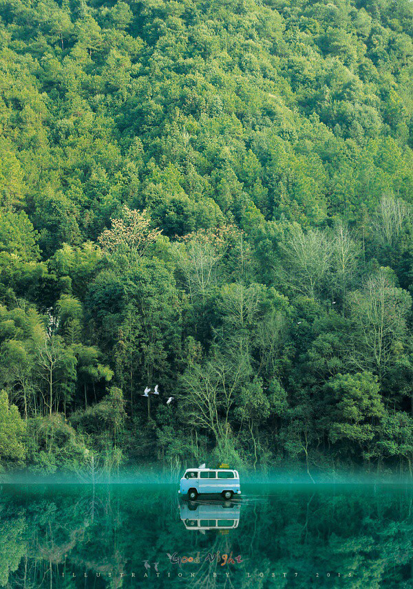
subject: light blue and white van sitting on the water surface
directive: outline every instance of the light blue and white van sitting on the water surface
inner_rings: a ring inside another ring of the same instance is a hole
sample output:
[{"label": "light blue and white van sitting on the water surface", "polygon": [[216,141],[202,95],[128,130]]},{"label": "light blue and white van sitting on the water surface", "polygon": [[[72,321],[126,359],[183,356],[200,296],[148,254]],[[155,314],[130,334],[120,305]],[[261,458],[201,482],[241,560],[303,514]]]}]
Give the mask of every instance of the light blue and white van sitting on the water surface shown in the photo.
[{"label": "light blue and white van sitting on the water surface", "polygon": [[179,493],[191,500],[201,494],[218,493],[228,500],[241,494],[240,475],[231,469],[187,469],[180,480]]}]

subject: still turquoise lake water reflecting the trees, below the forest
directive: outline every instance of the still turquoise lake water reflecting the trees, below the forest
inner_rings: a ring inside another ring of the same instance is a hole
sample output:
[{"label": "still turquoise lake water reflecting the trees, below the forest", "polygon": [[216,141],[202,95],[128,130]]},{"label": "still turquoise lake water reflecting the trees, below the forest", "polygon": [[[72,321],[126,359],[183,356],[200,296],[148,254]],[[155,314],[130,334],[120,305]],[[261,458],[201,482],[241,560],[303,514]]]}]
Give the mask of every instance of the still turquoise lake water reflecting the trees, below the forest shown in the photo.
[{"label": "still turquoise lake water reflecting the trees, below the forest", "polygon": [[3,485],[0,586],[411,588],[413,491],[250,485]]}]

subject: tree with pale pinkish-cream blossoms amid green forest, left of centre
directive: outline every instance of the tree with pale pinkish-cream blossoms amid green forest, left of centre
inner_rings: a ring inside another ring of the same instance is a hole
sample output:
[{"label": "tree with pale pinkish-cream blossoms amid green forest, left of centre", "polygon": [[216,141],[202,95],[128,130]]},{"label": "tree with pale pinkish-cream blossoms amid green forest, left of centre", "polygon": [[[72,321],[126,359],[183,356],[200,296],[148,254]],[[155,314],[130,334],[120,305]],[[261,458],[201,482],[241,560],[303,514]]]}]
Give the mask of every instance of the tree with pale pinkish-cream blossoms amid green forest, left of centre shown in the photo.
[{"label": "tree with pale pinkish-cream blossoms amid green forest, left of centre", "polygon": [[124,205],[121,217],[111,220],[112,227],[103,231],[98,242],[107,255],[124,257],[128,268],[145,255],[162,233],[152,228],[146,209],[140,212]]}]

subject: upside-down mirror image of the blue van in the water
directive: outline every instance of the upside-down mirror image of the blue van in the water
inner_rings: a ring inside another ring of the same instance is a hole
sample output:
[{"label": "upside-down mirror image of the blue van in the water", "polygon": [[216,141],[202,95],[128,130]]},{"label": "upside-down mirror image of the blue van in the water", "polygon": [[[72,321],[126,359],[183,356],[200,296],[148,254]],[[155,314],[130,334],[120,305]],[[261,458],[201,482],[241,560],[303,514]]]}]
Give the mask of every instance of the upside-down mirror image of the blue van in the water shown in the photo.
[{"label": "upside-down mirror image of the blue van in the water", "polygon": [[204,534],[207,530],[226,531],[240,523],[240,504],[231,501],[202,502],[180,500],[180,518],[187,530]]}]

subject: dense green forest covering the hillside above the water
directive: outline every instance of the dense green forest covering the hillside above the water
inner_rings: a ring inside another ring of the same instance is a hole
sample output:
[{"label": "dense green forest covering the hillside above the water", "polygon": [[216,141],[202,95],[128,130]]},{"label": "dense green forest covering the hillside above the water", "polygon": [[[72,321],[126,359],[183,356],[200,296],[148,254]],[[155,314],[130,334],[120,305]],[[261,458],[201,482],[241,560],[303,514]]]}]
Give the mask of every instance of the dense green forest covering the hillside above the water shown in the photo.
[{"label": "dense green forest covering the hillside above the water", "polygon": [[0,19],[1,468],[412,475],[412,3]]}]

